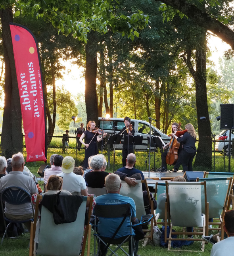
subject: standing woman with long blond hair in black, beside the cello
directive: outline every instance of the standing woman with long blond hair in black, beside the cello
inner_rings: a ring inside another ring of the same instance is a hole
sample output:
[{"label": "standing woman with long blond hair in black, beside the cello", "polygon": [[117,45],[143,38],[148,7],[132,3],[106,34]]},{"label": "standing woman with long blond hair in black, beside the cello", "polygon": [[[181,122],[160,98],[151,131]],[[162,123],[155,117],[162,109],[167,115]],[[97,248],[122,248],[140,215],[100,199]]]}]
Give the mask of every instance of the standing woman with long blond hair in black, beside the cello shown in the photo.
[{"label": "standing woman with long blond hair in black, beside the cello", "polygon": [[184,172],[193,170],[192,162],[197,152],[195,146],[197,135],[193,125],[187,123],[185,129],[187,129],[187,132],[184,133],[182,138],[177,137],[174,133],[172,134],[178,142],[183,143],[182,166]]}]

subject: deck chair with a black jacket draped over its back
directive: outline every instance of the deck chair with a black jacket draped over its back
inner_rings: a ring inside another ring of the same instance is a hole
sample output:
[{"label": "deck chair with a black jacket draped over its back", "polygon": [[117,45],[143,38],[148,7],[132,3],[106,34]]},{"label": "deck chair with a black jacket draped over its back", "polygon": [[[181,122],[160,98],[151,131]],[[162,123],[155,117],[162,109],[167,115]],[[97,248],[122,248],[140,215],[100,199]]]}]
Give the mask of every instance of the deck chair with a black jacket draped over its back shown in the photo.
[{"label": "deck chair with a black jacket draped over its back", "polygon": [[[39,200],[42,200],[42,196],[38,194],[36,198],[35,216],[38,216]],[[84,230],[86,204],[89,206],[89,223],[92,203],[93,196],[84,196],[77,213],[76,221],[59,225],[54,223],[53,214],[42,206],[38,248],[35,250],[36,246],[34,239],[37,222],[37,219],[35,218],[31,223],[29,256],[35,256],[36,254],[46,256],[79,256],[81,242],[84,235],[81,252],[81,256],[83,256],[89,229],[89,225],[86,225]]]}]

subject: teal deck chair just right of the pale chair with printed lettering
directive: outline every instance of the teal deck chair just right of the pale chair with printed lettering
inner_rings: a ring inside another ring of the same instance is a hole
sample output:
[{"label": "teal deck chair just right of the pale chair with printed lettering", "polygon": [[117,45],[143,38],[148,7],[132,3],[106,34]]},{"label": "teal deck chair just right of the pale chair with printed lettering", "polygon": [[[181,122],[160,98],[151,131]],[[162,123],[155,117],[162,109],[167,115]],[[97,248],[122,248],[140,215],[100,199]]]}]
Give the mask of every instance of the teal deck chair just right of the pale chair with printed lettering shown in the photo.
[{"label": "teal deck chair just right of the pale chair with printed lettering", "polygon": [[[224,209],[226,209],[228,195],[230,194],[232,177],[198,178],[197,181],[206,181],[206,196],[207,202],[209,202],[206,215],[206,236],[208,236],[209,230],[221,230],[222,233],[222,218],[224,216]],[[202,200],[204,203],[204,189],[202,190]],[[205,213],[205,207],[202,207],[202,213]],[[218,222],[209,222],[211,218]],[[219,225],[219,227],[209,228],[209,225]]]}]

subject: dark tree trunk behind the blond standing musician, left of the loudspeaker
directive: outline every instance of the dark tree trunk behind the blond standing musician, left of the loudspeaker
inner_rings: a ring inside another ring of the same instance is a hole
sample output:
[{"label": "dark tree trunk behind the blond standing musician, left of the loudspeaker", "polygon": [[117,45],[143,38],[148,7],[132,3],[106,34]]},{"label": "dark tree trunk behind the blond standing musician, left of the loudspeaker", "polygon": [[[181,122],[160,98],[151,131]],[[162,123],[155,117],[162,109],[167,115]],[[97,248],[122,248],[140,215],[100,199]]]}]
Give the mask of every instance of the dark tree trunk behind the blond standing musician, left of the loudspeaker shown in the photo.
[{"label": "dark tree trunk behind the blond standing musician, left of the loudspeaker", "polygon": [[[212,137],[210,129],[209,110],[206,90],[206,30],[201,29],[199,43],[196,49],[196,107],[198,116],[198,151],[194,166],[212,167]],[[207,121],[201,122],[205,116]]]}]

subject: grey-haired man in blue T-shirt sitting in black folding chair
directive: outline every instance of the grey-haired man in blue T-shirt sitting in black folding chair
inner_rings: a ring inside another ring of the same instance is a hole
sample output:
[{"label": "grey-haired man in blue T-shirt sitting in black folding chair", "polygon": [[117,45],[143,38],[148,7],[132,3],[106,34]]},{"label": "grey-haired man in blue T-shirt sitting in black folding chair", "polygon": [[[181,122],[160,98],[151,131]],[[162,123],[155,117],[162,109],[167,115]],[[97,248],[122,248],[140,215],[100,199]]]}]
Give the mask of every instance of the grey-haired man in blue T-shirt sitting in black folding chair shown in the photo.
[{"label": "grey-haired man in blue T-shirt sitting in black folding chair", "polygon": [[[131,215],[132,215],[132,224],[140,223],[138,219],[136,219],[136,206],[134,200],[127,196],[122,196],[119,194],[121,188],[121,180],[116,174],[109,174],[105,177],[105,188],[107,190],[107,194],[102,196],[98,196],[96,198],[96,204],[110,204],[110,202],[115,202],[116,204],[130,204],[131,207]],[[95,215],[95,208],[94,208]],[[98,221],[98,233],[103,235],[104,237],[112,237],[115,233],[117,227],[119,227],[122,219],[121,218],[99,218]],[[118,233],[115,236],[115,239],[123,237],[129,231],[130,220],[126,218],[122,227],[119,229]],[[142,231],[141,225],[133,227],[136,239],[136,252],[138,250],[139,240],[144,238],[144,233]],[[102,244],[102,243],[101,243]],[[101,250],[104,250],[103,244]],[[130,255],[130,244],[129,244],[129,255]]]}]

